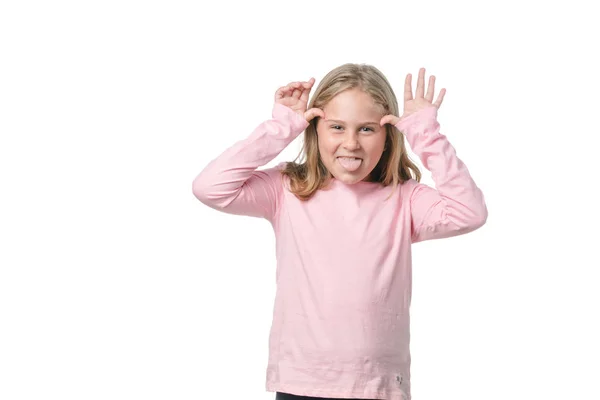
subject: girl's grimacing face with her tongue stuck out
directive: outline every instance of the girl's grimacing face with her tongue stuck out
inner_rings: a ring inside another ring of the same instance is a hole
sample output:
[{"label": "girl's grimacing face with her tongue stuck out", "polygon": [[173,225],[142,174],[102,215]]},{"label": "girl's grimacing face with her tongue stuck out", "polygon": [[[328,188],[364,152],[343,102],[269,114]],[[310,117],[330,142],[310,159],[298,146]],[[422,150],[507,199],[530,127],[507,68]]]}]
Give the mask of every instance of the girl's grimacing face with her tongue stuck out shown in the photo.
[{"label": "girl's grimacing face with her tongue stuck out", "polygon": [[325,118],[317,123],[323,164],[345,183],[369,181],[385,146],[381,110],[369,94],[351,89],[331,99],[323,111]]}]

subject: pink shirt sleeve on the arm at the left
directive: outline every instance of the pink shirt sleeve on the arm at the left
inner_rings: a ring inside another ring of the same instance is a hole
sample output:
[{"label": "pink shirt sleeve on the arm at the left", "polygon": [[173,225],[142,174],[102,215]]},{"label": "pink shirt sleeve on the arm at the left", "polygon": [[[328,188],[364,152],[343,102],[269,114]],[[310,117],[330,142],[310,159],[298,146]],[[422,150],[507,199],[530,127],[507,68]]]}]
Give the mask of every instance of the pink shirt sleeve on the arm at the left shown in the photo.
[{"label": "pink shirt sleeve on the arm at the left", "polygon": [[309,123],[279,103],[274,104],[272,117],[208,163],[192,183],[198,200],[229,214],[273,221],[282,191],[281,164],[257,169],[281,153]]}]

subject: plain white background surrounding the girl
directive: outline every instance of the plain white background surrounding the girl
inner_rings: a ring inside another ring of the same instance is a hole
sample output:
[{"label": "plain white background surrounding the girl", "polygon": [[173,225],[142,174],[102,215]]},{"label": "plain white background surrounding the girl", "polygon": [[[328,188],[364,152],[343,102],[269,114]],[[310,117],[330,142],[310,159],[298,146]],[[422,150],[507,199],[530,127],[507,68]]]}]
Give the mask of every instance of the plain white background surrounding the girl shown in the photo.
[{"label": "plain white background surrounding the girl", "polygon": [[413,398],[600,399],[600,33],[551,3],[2,2],[0,399],[274,399],[271,226],[191,184],[346,62],[436,75],[489,210],[413,248]]}]

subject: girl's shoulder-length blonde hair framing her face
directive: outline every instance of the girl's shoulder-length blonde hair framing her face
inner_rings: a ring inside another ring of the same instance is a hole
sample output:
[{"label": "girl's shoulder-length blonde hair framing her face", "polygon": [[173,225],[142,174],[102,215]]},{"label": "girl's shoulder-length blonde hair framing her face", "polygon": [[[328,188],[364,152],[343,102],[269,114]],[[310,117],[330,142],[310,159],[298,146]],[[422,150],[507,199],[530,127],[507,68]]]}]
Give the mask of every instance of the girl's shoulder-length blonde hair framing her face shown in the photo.
[{"label": "girl's shoulder-length blonde hair framing her face", "polygon": [[[354,63],[341,65],[325,75],[309,101],[307,110],[314,107],[323,109],[333,97],[354,88],[371,95],[383,115],[399,115],[398,100],[383,73],[374,66]],[[327,188],[332,178],[319,154],[318,118],[313,118],[304,131],[303,147],[296,159],[288,162],[281,171],[290,179],[290,191],[300,200],[309,200],[317,190]],[[404,134],[391,124],[385,124],[385,128],[385,149],[371,172],[371,181],[385,186],[393,185],[394,189],[410,178],[420,181],[421,171],[406,153]],[[299,158],[302,158],[302,162],[297,163]]]}]

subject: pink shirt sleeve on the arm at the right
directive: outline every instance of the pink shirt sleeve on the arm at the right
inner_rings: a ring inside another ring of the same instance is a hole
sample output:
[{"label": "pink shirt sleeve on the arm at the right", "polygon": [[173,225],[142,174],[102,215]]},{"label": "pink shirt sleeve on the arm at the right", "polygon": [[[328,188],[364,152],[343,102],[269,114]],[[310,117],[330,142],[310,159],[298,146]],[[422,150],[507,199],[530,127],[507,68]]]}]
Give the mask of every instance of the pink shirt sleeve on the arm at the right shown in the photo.
[{"label": "pink shirt sleeve on the arm at the right", "polygon": [[462,235],[485,224],[488,212],[483,193],[454,147],[440,133],[437,107],[432,105],[409,115],[396,128],[431,171],[437,189],[410,180],[412,243]]}]

